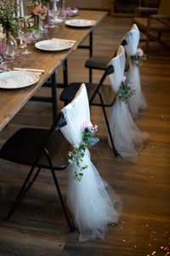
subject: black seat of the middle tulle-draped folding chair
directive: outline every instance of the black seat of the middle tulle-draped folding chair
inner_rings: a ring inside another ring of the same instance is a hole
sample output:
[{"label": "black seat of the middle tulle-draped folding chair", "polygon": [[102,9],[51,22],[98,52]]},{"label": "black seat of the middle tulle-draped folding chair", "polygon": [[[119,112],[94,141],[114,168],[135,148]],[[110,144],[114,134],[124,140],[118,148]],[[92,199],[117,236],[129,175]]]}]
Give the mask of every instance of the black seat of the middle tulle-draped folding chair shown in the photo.
[{"label": "black seat of the middle tulle-draped folding chair", "polygon": [[[71,102],[74,96],[76,95],[77,90],[80,88],[81,84],[82,83],[71,83],[68,86],[66,86],[65,89],[61,92],[60,101]],[[89,101],[94,95],[94,91],[96,90],[98,85],[99,84],[86,84]],[[99,91],[102,95],[105,107],[111,107],[111,105],[113,104],[113,99],[115,98],[115,94],[111,89],[111,85],[101,84]],[[94,97],[93,104],[91,105],[99,105],[99,106],[101,105],[98,94]]]}]

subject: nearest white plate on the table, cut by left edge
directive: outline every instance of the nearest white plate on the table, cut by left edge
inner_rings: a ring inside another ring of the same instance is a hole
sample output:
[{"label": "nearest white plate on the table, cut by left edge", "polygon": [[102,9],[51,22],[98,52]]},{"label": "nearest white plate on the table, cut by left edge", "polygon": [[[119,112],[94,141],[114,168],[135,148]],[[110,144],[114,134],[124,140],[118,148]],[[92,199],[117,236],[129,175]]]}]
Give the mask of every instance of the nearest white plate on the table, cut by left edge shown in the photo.
[{"label": "nearest white plate on the table, cut by left edge", "polygon": [[19,89],[35,84],[39,75],[29,71],[9,71],[0,73],[0,88]]}]

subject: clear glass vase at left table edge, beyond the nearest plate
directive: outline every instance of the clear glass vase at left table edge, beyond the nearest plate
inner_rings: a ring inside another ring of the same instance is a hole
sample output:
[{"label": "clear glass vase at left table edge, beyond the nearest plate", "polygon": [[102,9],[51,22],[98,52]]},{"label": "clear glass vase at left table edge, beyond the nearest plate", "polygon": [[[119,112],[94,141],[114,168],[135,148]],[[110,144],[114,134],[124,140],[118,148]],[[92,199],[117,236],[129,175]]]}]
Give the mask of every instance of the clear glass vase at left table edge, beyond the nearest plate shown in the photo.
[{"label": "clear glass vase at left table edge, beyond the nearest plate", "polygon": [[13,60],[17,57],[17,42],[11,34],[6,34],[3,38],[2,51],[5,59]]}]

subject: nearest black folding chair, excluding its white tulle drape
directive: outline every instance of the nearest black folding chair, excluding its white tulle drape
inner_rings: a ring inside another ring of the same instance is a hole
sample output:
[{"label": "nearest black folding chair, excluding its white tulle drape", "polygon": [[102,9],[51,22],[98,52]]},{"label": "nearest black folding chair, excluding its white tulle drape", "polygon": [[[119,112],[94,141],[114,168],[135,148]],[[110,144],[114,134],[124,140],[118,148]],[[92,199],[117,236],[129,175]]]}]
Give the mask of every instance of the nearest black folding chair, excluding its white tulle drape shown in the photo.
[{"label": "nearest black folding chair, excluding its white tulle drape", "polygon": [[30,172],[23,183],[19,194],[14,201],[13,207],[8,212],[7,219],[12,216],[26,193],[36,181],[42,168],[49,169],[54,178],[54,184],[59,194],[65,218],[70,230],[73,230],[65,202],[59,189],[59,183],[55,171],[62,171],[67,168],[68,152],[70,143],[65,140],[59,129],[66,125],[64,113],[59,112],[54,124],[49,130],[38,128],[22,128],[15,132],[0,149],[0,158],[25,166],[31,166]]}]

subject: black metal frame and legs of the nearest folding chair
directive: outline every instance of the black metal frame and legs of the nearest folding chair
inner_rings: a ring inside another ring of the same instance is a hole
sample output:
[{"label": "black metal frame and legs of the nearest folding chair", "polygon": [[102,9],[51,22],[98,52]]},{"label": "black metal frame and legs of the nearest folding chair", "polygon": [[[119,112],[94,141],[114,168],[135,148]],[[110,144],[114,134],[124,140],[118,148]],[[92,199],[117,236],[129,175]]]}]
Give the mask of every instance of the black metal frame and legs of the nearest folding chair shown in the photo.
[{"label": "black metal frame and legs of the nearest folding chair", "polygon": [[[19,207],[21,201],[23,201],[23,199],[25,198],[27,192],[31,189],[31,186],[33,185],[33,183],[36,181],[37,176],[38,176],[39,172],[42,169],[42,166],[40,166],[40,164],[38,164],[38,166],[37,166],[37,163],[38,163],[38,160],[40,159],[40,157],[42,156],[42,153],[45,153],[45,156],[47,157],[47,160],[48,160],[49,169],[50,169],[50,171],[52,173],[52,176],[54,178],[54,184],[55,184],[55,187],[56,187],[58,195],[59,195],[59,200],[61,202],[61,205],[63,207],[63,211],[65,213],[65,218],[66,218],[67,224],[68,224],[69,229],[71,231],[74,230],[74,227],[71,225],[70,218],[68,216],[68,212],[67,212],[66,207],[65,207],[65,202],[63,200],[63,196],[62,196],[61,191],[59,189],[59,183],[58,183],[57,177],[56,177],[55,172],[54,172],[55,170],[57,170],[57,171],[64,170],[65,168],[67,168],[69,163],[67,163],[66,166],[63,166],[63,167],[56,167],[55,166],[55,168],[54,168],[51,157],[50,157],[50,154],[48,152],[48,149],[46,148],[49,138],[52,137],[52,135],[54,134],[55,131],[59,131],[59,129],[61,127],[63,127],[64,125],[66,125],[64,113],[59,112],[59,114],[57,115],[57,117],[54,121],[54,124],[51,126],[50,130],[48,131],[48,136],[46,137],[44,143],[42,144],[42,148],[40,148],[40,150],[37,154],[37,158],[34,161],[34,163],[32,164],[31,169],[28,172],[28,175],[25,179],[25,182],[21,186],[20,192],[18,193],[18,195],[17,195],[17,197],[14,201],[13,206],[11,207],[10,211],[8,212],[8,215],[7,215],[6,219],[11,218],[11,216],[14,214],[17,207]],[[35,171],[36,168],[37,168],[37,172],[33,176],[33,172]]]}]

